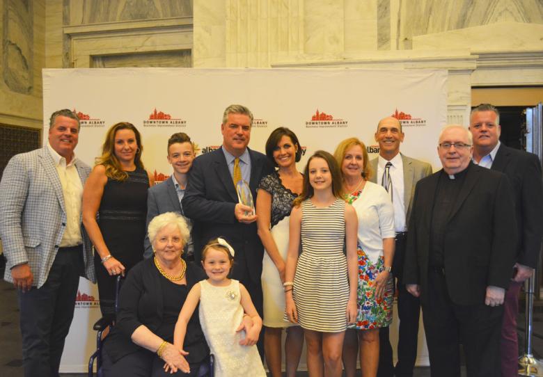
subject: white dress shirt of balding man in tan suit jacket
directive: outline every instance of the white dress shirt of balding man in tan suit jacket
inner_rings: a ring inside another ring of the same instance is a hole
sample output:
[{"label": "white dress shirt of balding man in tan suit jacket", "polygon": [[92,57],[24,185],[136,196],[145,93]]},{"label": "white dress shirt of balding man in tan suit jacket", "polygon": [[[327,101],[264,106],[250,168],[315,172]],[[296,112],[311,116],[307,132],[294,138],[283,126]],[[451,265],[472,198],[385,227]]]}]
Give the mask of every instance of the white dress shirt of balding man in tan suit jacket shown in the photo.
[{"label": "white dress shirt of balding man in tan suit jacket", "polygon": [[407,230],[405,221],[405,203],[404,203],[404,163],[402,155],[396,154],[391,161],[387,161],[381,155],[377,159],[377,183],[382,186],[383,173],[387,162],[392,163],[390,175],[392,181],[392,204],[394,207],[394,223],[396,232],[405,232]]}]

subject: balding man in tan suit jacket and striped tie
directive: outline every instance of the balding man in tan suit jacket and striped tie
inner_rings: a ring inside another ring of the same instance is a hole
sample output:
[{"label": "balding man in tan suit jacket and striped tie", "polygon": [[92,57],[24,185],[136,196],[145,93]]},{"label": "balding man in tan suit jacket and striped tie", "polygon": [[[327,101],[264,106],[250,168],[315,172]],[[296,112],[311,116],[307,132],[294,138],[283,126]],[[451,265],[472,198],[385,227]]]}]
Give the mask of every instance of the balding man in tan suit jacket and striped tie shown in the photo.
[{"label": "balding man in tan suit jacket and striped tie", "polygon": [[[400,144],[404,141],[404,136],[398,119],[393,117],[381,119],[375,132],[375,141],[379,143],[379,157],[370,161],[373,171],[372,182],[385,186],[394,206],[396,242],[392,273],[393,278],[398,279],[396,289],[398,289],[398,317],[400,318],[398,363],[395,367],[392,364],[392,347],[388,339],[388,328],[381,328],[379,332],[379,371],[377,372],[379,377],[413,376],[417,356],[420,303],[418,298],[409,294],[401,280],[407,223],[411,214],[415,185],[419,179],[432,174],[432,166],[400,153]],[[385,177],[388,179],[384,179]]]}]

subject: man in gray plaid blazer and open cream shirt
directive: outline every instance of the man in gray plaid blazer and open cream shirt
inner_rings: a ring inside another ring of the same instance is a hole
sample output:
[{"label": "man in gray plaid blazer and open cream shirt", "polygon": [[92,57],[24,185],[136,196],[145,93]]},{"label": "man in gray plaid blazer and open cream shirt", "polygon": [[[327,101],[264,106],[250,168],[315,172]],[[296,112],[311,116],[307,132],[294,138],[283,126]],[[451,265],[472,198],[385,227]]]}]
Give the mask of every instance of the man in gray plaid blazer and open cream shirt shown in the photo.
[{"label": "man in gray plaid blazer and open cream shirt", "polygon": [[77,115],[56,111],[47,145],[10,159],[0,182],[4,279],[18,291],[25,376],[58,376],[79,276],[95,280],[81,225],[91,168],[74,155],[78,138]]}]

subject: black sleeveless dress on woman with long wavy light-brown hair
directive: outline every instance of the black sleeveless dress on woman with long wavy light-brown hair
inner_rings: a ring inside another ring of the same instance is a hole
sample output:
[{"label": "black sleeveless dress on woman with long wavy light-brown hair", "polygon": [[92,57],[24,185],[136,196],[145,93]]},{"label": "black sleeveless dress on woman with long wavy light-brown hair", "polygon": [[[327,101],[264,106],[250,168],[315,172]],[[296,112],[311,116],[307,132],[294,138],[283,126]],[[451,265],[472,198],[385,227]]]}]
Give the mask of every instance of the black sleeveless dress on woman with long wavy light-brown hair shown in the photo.
[{"label": "black sleeveless dress on woman with long wavy light-brown hair", "polygon": [[[143,259],[145,220],[147,217],[147,190],[149,177],[142,168],[126,172],[124,182],[107,179],[98,209],[98,227],[111,255],[125,266],[125,275]],[[100,310],[102,314],[115,313],[116,276],[110,276],[100,255],[94,258]]]}]

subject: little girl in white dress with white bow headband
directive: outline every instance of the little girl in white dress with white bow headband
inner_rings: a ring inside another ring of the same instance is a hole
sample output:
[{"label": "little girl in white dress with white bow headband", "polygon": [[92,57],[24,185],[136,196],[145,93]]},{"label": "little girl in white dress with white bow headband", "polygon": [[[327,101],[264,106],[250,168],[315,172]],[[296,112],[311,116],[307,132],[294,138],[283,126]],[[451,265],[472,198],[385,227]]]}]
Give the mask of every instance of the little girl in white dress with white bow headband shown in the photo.
[{"label": "little girl in white dress with white bow headband", "polygon": [[[228,278],[233,259],[234,249],[224,239],[213,239],[204,247],[202,265],[208,279],[195,284],[189,292],[175,324],[173,344],[185,354],[187,323],[200,303],[200,325],[215,358],[215,376],[265,377],[255,346],[262,319],[243,284]],[[253,327],[245,336],[244,332],[236,331],[244,312],[253,320]],[[188,368],[182,371],[189,373]]]}]

